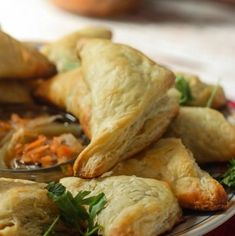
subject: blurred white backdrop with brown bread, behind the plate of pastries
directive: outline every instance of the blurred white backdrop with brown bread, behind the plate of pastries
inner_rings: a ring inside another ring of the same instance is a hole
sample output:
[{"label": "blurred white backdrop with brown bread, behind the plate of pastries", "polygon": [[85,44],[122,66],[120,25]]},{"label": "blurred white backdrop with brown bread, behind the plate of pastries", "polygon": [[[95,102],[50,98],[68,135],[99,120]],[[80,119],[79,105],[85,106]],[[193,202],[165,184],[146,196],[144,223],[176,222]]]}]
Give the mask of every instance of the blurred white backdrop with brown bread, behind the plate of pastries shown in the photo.
[{"label": "blurred white backdrop with brown bread, behind the plate of pastries", "polygon": [[39,42],[103,25],[159,63],[220,80],[235,100],[235,0],[0,0],[0,25]]}]

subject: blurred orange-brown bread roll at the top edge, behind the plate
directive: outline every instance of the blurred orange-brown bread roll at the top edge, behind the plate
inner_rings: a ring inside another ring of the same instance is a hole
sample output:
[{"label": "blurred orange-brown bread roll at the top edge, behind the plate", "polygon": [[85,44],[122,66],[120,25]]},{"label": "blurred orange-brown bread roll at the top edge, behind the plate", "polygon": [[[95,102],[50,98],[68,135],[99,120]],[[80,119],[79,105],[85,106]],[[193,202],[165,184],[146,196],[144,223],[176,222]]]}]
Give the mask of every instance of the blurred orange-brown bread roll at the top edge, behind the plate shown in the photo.
[{"label": "blurred orange-brown bread roll at the top edge, behind the plate", "polygon": [[57,6],[81,15],[113,16],[129,12],[139,5],[140,0],[52,0]]}]

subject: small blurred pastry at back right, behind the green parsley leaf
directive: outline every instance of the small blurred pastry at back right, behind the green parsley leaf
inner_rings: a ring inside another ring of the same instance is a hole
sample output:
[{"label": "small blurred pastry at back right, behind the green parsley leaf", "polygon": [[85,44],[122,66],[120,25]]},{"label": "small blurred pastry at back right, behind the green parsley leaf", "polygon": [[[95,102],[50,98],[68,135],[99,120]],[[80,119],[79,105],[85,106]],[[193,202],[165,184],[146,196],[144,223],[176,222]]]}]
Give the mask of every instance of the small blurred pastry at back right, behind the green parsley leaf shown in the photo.
[{"label": "small blurred pastry at back right, behind the green parsley leaf", "polygon": [[206,107],[213,90],[216,92],[211,107],[218,109],[226,104],[226,97],[221,86],[206,84],[196,75],[176,73],[176,76],[183,77],[189,84],[193,99],[187,102],[188,106]]}]

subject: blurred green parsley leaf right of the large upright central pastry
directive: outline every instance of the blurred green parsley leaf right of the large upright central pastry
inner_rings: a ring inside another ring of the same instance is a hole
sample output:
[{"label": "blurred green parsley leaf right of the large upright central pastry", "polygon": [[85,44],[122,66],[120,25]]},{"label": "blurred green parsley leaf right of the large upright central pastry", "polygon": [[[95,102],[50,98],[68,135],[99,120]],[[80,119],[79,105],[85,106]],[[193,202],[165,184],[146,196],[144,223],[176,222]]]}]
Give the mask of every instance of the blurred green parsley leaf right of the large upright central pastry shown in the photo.
[{"label": "blurred green parsley leaf right of the large upright central pastry", "polygon": [[191,94],[189,83],[184,79],[183,76],[176,76],[175,87],[181,93],[180,105],[185,105],[192,101],[193,97]]}]

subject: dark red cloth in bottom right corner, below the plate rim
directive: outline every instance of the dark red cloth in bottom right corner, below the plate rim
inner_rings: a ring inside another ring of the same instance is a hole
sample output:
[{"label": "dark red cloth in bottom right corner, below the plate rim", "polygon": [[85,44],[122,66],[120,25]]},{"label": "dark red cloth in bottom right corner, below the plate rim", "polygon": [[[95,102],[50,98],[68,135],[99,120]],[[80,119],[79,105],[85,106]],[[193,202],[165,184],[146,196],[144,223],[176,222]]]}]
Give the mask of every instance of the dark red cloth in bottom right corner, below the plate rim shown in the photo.
[{"label": "dark red cloth in bottom right corner, below the plate rim", "polygon": [[211,231],[205,236],[234,236],[235,235],[235,216],[230,220],[219,226],[217,229]]}]

